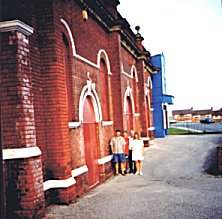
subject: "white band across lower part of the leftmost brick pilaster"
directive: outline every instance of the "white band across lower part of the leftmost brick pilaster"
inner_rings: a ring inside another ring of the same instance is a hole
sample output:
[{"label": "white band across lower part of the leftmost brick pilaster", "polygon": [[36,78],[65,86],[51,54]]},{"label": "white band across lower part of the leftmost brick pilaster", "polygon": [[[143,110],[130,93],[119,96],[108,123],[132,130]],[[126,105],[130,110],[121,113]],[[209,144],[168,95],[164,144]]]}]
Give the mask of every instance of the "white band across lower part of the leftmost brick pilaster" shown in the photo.
[{"label": "white band across lower part of the leftmost brick pilaster", "polygon": [[40,156],[42,154],[39,147],[28,147],[28,148],[9,148],[3,149],[3,160],[12,159],[24,159],[30,157]]}]

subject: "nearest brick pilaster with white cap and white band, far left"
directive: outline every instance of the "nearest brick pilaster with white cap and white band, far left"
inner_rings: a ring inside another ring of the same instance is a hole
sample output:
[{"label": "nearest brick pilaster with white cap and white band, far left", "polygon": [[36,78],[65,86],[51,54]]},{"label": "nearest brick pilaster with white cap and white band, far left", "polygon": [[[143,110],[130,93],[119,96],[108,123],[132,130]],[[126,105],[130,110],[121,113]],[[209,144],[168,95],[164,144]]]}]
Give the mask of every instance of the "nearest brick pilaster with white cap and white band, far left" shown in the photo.
[{"label": "nearest brick pilaster with white cap and white band, far left", "polygon": [[41,152],[36,145],[29,51],[29,35],[33,29],[14,20],[1,22],[0,32],[7,217],[41,218],[43,174]]}]

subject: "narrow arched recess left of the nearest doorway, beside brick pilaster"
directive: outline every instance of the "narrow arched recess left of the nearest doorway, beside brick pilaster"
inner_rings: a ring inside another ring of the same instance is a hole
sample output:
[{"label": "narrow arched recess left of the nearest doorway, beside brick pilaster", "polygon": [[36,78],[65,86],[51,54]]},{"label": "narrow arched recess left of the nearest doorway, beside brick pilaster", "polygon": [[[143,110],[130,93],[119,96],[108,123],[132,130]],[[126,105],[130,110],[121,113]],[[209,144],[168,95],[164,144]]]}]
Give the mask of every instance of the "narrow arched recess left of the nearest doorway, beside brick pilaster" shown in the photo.
[{"label": "narrow arched recess left of the nearest doorway, beside brick pilaster", "polygon": [[72,58],[71,50],[68,39],[65,34],[62,34],[63,40],[63,66],[66,77],[66,93],[67,93],[67,108],[68,108],[68,119],[72,121],[74,118],[74,101],[72,98]]}]

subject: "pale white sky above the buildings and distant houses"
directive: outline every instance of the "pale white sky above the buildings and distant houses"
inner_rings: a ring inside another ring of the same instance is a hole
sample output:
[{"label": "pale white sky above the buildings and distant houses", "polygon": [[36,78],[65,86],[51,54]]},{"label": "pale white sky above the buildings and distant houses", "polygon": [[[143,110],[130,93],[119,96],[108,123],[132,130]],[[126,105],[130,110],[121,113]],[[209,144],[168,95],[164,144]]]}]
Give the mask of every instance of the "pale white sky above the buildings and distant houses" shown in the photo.
[{"label": "pale white sky above the buildings and distant houses", "polygon": [[[222,108],[221,0],[120,0],[151,55],[164,53],[174,109]],[[135,32],[135,31],[134,31]]]}]

